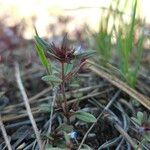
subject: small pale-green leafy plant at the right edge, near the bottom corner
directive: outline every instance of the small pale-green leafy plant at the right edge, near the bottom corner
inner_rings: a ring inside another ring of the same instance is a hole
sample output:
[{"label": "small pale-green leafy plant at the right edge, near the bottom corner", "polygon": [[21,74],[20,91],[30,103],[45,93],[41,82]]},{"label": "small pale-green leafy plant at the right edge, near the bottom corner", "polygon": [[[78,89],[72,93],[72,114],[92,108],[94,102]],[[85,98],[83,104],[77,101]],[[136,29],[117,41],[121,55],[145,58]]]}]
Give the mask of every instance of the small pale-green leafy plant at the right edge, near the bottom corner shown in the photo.
[{"label": "small pale-green leafy plant at the right edge, near the bottom corner", "polygon": [[137,112],[136,117],[132,117],[132,122],[138,129],[138,132],[142,135],[142,143],[150,143],[150,116],[146,112]]}]

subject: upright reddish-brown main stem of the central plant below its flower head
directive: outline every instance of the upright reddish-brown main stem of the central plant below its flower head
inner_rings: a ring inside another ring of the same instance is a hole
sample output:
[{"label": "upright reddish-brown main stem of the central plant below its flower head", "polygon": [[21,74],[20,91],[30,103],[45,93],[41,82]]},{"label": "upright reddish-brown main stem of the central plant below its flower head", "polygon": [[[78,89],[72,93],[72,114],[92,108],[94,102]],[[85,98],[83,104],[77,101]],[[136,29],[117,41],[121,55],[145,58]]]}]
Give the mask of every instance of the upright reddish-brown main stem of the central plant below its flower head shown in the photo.
[{"label": "upright reddish-brown main stem of the central plant below its flower head", "polygon": [[65,116],[67,118],[67,121],[69,122],[69,118],[68,118],[68,106],[67,106],[67,99],[66,99],[66,94],[65,94],[65,72],[64,72],[64,63],[61,63],[61,67],[62,67],[62,74],[61,74],[61,78],[62,78],[62,83],[61,83],[61,92],[63,95],[63,100],[64,100],[64,113]]}]

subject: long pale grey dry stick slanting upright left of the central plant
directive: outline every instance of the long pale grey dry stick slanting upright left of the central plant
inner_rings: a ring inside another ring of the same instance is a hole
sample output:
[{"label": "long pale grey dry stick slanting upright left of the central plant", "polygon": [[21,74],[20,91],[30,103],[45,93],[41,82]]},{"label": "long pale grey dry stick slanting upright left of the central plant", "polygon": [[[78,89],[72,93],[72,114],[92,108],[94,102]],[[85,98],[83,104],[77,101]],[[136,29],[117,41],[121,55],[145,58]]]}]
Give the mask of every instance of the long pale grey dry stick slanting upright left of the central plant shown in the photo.
[{"label": "long pale grey dry stick slanting upright left of the central plant", "polygon": [[43,146],[42,146],[42,141],[41,141],[41,137],[40,137],[40,132],[39,132],[39,130],[37,128],[37,125],[36,125],[36,122],[33,118],[33,114],[32,114],[32,111],[31,111],[31,108],[30,108],[30,105],[29,105],[29,100],[28,100],[27,94],[25,92],[25,89],[23,87],[22,81],[21,81],[20,70],[19,70],[18,63],[15,63],[15,71],[16,71],[17,84],[18,84],[18,87],[19,87],[20,92],[22,94],[22,97],[23,97],[23,100],[24,100],[24,103],[25,103],[25,107],[26,107],[26,110],[27,110],[27,114],[28,114],[29,119],[31,121],[31,124],[33,126],[33,129],[34,129],[34,132],[35,132],[35,135],[36,135],[36,138],[37,138],[37,142],[38,142],[38,145],[39,145],[39,149],[42,150]]}]

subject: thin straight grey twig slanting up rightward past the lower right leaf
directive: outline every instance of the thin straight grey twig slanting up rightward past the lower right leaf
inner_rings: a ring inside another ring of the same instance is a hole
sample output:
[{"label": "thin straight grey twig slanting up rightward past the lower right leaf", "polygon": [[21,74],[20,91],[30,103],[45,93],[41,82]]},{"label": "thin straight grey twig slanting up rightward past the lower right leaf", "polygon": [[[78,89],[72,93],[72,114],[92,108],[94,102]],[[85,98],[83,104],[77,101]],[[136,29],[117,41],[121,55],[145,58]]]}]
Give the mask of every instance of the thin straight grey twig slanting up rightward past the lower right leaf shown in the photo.
[{"label": "thin straight grey twig slanting up rightward past the lower right leaf", "polygon": [[97,117],[96,121],[91,125],[91,127],[88,129],[88,131],[86,132],[86,134],[84,135],[79,147],[78,147],[78,150],[81,149],[84,141],[86,140],[88,134],[90,133],[90,131],[93,129],[93,127],[95,126],[95,124],[97,123],[97,121],[101,118],[102,114],[107,111],[110,106],[113,104],[113,102],[117,99],[117,97],[119,96],[120,94],[120,90],[112,97],[112,99],[110,100],[110,102],[106,105],[106,107],[102,110],[102,112],[99,114],[99,116]]}]

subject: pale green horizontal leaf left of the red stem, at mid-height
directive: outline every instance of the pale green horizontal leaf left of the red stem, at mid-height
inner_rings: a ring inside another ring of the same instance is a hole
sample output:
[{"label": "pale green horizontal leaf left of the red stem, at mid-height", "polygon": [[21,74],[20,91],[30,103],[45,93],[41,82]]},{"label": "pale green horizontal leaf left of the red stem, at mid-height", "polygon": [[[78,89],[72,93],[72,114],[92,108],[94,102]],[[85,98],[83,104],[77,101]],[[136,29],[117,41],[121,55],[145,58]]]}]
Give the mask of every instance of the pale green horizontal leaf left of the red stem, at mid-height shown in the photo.
[{"label": "pale green horizontal leaf left of the red stem, at mid-height", "polygon": [[45,82],[56,82],[56,83],[61,83],[62,80],[59,77],[56,77],[55,75],[46,75],[42,77],[42,80]]}]

